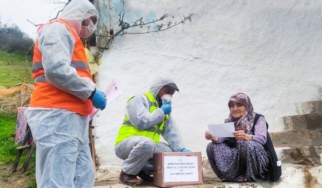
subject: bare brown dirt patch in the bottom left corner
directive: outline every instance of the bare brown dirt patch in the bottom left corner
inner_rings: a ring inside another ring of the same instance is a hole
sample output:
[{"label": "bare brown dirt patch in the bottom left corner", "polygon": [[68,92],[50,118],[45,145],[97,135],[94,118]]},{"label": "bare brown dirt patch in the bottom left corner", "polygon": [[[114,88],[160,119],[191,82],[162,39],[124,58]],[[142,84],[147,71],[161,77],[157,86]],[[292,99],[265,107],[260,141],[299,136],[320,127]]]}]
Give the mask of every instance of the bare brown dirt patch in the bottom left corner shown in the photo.
[{"label": "bare brown dirt patch in the bottom left corner", "polygon": [[31,180],[31,175],[25,175],[20,171],[11,172],[12,165],[0,166],[0,187],[17,188],[27,187]]}]

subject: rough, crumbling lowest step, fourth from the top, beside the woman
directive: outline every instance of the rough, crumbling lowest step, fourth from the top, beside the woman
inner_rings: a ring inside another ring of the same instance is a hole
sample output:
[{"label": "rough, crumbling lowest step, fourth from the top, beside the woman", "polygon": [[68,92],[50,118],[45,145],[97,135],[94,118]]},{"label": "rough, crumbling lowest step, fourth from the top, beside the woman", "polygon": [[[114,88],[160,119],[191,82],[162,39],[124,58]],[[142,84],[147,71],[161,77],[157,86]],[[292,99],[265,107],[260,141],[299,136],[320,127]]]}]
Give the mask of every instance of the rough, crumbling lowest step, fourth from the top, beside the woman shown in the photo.
[{"label": "rough, crumbling lowest step, fourth from the top, beside the woman", "polygon": [[282,163],[322,165],[322,146],[275,147]]}]

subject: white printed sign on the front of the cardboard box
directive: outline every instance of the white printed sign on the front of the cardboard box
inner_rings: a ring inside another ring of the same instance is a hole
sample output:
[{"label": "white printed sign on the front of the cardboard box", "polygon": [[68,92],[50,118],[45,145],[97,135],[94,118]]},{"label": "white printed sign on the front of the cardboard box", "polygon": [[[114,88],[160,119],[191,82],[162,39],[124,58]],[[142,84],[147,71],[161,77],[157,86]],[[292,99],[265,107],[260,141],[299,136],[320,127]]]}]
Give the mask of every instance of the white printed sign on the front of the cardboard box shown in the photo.
[{"label": "white printed sign on the front of the cardboard box", "polygon": [[165,182],[198,181],[197,156],[165,156]]}]

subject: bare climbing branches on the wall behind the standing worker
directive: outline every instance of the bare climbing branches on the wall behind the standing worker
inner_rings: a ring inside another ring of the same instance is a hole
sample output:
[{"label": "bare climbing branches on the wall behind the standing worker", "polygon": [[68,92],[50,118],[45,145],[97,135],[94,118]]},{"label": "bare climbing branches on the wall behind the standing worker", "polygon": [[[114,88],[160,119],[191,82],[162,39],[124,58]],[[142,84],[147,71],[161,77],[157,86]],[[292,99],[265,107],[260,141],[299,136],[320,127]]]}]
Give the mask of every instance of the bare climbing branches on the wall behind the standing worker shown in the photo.
[{"label": "bare climbing branches on the wall behind the standing worker", "polygon": [[[53,3],[53,4],[63,4],[64,7],[68,5],[68,3],[72,0],[42,0],[46,3]],[[89,0],[90,1],[90,0]],[[149,18],[148,20],[144,17],[141,17],[137,20],[133,21],[125,21],[124,16],[126,15],[124,11],[124,1],[121,0],[119,3],[122,4],[122,11],[119,13],[118,25],[116,28],[112,28],[111,25],[108,26],[106,24],[106,20],[110,19],[111,22],[111,15],[105,15],[106,12],[111,13],[113,8],[110,6],[110,1],[90,1],[92,2],[98,11],[100,12],[100,19],[98,23],[98,30],[96,34],[91,36],[87,40],[83,40],[84,46],[89,48],[90,46],[95,46],[97,44],[97,52],[94,54],[94,60],[91,61],[93,64],[100,64],[100,57],[102,56],[103,52],[109,49],[110,44],[116,40],[118,37],[124,35],[141,35],[141,34],[148,34],[148,33],[155,33],[155,32],[163,32],[174,28],[179,25],[184,25],[187,22],[192,22],[192,17],[195,15],[194,13],[189,13],[188,15],[180,15],[177,16],[170,16],[169,14],[163,14],[160,17]],[[64,7],[58,11],[55,18],[51,19],[54,20],[58,17],[60,12],[64,9]],[[178,9],[182,9],[180,7]],[[104,14],[102,14],[104,13]],[[101,15],[102,14],[102,15]],[[37,25],[35,25],[37,26]],[[96,65],[97,67],[97,65]]]}]

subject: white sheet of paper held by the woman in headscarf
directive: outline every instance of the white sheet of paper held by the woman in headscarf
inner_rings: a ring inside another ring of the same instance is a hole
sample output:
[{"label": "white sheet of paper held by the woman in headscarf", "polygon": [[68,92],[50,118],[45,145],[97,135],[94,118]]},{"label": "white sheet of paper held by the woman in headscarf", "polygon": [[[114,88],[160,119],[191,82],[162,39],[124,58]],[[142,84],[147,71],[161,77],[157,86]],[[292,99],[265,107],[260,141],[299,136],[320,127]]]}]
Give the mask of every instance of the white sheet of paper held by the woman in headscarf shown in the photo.
[{"label": "white sheet of paper held by the woman in headscarf", "polygon": [[234,137],[232,134],[235,131],[233,122],[222,123],[222,124],[210,124],[208,125],[209,132],[215,137]]}]

